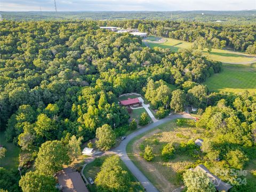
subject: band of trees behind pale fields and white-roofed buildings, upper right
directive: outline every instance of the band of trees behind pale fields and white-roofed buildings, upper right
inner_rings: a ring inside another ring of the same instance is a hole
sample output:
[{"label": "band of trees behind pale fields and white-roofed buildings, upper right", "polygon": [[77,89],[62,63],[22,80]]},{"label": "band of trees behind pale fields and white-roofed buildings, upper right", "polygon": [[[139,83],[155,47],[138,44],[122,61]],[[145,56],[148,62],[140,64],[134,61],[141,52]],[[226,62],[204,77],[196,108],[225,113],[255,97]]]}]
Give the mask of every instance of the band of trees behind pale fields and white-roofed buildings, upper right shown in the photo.
[{"label": "band of trees behind pale fields and white-roofed buildings, upper right", "polygon": [[229,47],[234,51],[246,51],[256,54],[256,26],[221,25],[214,23],[177,22],[157,20],[129,20],[129,21],[99,21],[102,26],[118,26],[123,28],[138,28],[161,37],[170,37],[187,42],[204,42],[216,49]]}]

